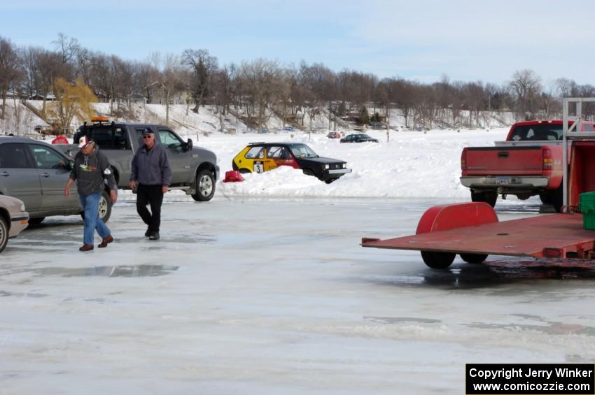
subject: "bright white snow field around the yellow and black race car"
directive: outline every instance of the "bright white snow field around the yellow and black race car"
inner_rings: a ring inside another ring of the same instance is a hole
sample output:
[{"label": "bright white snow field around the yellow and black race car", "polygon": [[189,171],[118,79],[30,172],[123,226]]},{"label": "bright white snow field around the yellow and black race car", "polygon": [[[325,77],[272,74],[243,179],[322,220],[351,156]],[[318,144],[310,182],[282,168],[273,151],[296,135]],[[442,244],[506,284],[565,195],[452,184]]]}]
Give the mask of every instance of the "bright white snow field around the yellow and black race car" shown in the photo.
[{"label": "bright white snow field around the yellow and black race car", "polygon": [[[470,199],[468,188],[461,185],[461,151],[465,146],[493,146],[505,139],[507,130],[430,130],[367,131],[379,143],[339,143],[326,134],[307,134],[301,131],[278,134],[210,134],[183,135],[193,138],[195,145],[213,150],[221,167],[222,177],[217,183],[216,199],[259,197],[332,197],[398,199],[432,197],[437,200]],[[293,136],[293,137],[292,137]],[[306,143],[318,155],[347,161],[352,173],[327,185],[289,167],[274,171],[245,175],[245,182],[222,182],[225,171],[232,169],[232,159],[246,144],[255,141],[292,141]],[[125,194],[128,192],[124,192]],[[184,199],[182,192],[172,192],[167,199]],[[190,200],[190,197],[187,198]],[[535,199],[535,198],[533,198]],[[538,199],[538,198],[537,198]],[[513,196],[498,204],[519,203]]]}]

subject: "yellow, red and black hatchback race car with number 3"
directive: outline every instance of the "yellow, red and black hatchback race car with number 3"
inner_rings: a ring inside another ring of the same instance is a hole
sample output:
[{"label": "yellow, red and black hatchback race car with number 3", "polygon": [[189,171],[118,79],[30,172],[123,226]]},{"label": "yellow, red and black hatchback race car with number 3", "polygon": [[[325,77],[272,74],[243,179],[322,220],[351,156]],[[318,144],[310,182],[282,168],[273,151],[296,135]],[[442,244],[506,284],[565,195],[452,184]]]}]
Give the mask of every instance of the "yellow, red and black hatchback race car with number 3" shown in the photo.
[{"label": "yellow, red and black hatchback race car with number 3", "polygon": [[300,168],[327,184],[351,173],[346,162],[319,157],[305,144],[250,143],[232,161],[233,169],[240,173],[263,173],[279,166]]}]

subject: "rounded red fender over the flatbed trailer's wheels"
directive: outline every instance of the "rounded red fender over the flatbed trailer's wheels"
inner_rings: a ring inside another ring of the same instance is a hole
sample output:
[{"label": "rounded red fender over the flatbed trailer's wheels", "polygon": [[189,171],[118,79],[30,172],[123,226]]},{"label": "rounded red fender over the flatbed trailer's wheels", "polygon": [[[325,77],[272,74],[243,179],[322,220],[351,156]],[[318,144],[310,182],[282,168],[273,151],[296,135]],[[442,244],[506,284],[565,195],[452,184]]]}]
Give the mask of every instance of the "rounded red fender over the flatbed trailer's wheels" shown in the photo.
[{"label": "rounded red fender over the flatbed trailer's wheels", "polygon": [[498,222],[498,216],[488,203],[445,204],[428,208],[421,216],[415,234],[447,231],[491,222]]}]

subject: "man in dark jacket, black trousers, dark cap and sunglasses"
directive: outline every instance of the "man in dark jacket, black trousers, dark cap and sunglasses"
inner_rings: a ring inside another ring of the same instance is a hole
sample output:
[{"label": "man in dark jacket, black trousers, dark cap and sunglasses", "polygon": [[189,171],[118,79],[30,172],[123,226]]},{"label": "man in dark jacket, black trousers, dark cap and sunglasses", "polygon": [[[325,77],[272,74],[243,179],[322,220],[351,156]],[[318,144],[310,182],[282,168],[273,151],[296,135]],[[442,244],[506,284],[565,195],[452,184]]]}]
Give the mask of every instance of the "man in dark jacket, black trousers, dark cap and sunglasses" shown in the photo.
[{"label": "man in dark jacket, black trousers, dark cap and sunglasses", "polygon": [[[161,203],[172,181],[172,168],[169,167],[167,152],[155,141],[151,129],[144,129],[143,141],[144,145],[132,158],[130,187],[137,192],[137,212],[148,226],[145,237],[159,240]],[[147,204],[151,205],[151,213]]]}]

